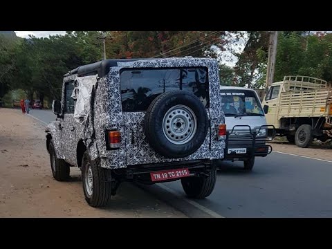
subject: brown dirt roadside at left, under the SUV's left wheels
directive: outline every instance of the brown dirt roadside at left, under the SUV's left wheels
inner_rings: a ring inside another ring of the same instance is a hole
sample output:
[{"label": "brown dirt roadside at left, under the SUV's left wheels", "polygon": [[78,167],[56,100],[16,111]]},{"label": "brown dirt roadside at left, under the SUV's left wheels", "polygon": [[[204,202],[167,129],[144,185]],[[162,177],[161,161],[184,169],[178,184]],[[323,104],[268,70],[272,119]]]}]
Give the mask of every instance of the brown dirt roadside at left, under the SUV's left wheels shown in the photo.
[{"label": "brown dirt roadside at left, under the SUV's left wheels", "polygon": [[33,118],[0,108],[0,217],[186,217],[130,183],[107,208],[91,208],[79,169],[72,181],[53,179],[45,135]]}]

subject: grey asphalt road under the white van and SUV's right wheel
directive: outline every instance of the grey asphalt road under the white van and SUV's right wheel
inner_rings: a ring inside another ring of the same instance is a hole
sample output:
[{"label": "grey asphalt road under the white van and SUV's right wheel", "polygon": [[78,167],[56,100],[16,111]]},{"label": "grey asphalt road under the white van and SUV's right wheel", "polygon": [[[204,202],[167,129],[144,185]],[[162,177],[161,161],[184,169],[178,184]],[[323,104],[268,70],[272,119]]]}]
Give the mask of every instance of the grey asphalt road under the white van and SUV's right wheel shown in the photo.
[{"label": "grey asphalt road under the white van and SUV's right wheel", "polygon": [[[55,120],[50,111],[30,114],[42,124]],[[204,200],[187,199],[180,181],[142,188],[193,217],[332,217],[332,163],[277,152],[256,158],[252,172],[222,163]]]}]

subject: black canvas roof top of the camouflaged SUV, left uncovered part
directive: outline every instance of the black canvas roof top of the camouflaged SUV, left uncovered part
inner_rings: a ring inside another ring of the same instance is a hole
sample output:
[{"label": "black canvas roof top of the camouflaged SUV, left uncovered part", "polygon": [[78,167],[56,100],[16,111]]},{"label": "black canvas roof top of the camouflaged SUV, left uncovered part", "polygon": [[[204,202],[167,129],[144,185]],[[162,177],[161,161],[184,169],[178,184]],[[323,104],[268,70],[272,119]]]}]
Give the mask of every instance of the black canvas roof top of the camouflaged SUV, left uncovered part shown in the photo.
[{"label": "black canvas roof top of the camouflaged SUV, left uncovered part", "polygon": [[92,64],[86,64],[84,66],[79,66],[69,73],[66,73],[64,76],[68,75],[74,75],[77,74],[77,76],[86,76],[86,75],[95,75],[98,74],[99,77],[103,77],[104,75],[107,75],[109,73],[109,68],[112,66],[118,66],[118,62],[133,62],[139,59],[144,58],[138,58],[138,59],[104,59],[100,62],[95,62]]}]

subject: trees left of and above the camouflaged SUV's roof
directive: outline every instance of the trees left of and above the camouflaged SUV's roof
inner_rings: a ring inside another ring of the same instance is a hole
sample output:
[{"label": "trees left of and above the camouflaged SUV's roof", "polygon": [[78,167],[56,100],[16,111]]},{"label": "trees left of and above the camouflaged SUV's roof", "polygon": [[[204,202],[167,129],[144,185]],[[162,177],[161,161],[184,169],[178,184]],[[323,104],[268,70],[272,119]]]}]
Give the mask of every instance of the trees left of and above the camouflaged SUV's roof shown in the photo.
[{"label": "trees left of and above the camouflaged SUV's roof", "polygon": [[23,89],[27,98],[61,98],[63,75],[104,58],[216,57],[214,46],[228,42],[223,31],[67,31],[48,38],[17,39],[0,35],[0,97]]}]

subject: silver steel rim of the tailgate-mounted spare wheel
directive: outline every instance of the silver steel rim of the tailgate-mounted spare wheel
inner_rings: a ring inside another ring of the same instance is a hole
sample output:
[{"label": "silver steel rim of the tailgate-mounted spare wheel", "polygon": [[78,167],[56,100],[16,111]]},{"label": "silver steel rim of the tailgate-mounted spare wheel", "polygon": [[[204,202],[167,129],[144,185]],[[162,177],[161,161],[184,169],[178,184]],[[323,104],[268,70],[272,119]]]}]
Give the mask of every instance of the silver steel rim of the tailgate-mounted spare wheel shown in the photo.
[{"label": "silver steel rim of the tailgate-mounted spare wheel", "polygon": [[197,129],[197,118],[189,107],[178,104],[163,118],[163,133],[174,145],[184,145],[192,140]]}]

